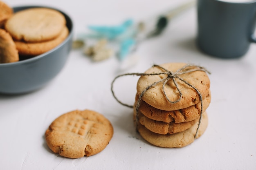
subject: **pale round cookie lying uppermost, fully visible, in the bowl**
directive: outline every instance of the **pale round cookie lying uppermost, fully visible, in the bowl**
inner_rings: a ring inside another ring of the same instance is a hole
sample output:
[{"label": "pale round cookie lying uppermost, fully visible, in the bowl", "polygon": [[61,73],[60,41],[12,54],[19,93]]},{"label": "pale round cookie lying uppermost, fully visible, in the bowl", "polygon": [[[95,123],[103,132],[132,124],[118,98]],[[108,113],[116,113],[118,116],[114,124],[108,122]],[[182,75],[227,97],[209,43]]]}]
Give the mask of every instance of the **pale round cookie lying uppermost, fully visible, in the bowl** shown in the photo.
[{"label": "pale round cookie lying uppermost, fully visible, in the bowl", "polygon": [[5,29],[15,40],[42,42],[56,38],[65,25],[62,13],[48,8],[31,8],[14,13]]}]

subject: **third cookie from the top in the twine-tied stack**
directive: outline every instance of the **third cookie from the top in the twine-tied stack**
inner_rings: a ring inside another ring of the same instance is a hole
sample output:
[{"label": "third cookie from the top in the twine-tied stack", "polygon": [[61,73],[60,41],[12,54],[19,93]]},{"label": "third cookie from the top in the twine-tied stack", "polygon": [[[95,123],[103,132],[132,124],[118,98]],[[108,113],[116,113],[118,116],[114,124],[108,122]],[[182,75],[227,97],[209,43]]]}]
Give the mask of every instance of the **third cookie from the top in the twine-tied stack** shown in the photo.
[{"label": "third cookie from the top in the twine-tied stack", "polygon": [[[134,111],[134,114],[136,116],[136,110]],[[173,134],[177,132],[182,132],[184,130],[187,130],[188,128],[191,128],[196,122],[198,122],[199,117],[197,119],[194,119],[192,121],[182,122],[182,123],[164,123],[162,121],[155,121],[152,119],[148,119],[146,116],[144,116],[142,113],[138,113],[138,119],[139,123],[143,125],[145,128],[150,130],[151,132],[155,132],[158,134],[166,135],[167,133]]]}]

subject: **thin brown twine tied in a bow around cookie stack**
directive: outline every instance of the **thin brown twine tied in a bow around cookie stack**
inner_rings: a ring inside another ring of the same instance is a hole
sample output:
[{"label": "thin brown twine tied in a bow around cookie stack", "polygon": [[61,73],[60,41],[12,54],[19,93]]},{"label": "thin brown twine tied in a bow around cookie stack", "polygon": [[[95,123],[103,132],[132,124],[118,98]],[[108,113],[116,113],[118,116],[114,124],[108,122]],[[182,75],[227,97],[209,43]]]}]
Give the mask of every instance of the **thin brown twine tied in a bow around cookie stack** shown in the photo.
[{"label": "thin brown twine tied in a bow around cookie stack", "polygon": [[[209,71],[207,71],[207,69],[205,69],[204,67],[202,66],[197,66],[197,65],[193,65],[193,64],[187,64],[185,66],[183,66],[182,68],[178,69],[177,71],[175,71],[174,73],[172,71],[168,71],[166,70],[165,68],[163,68],[162,66],[159,66],[159,65],[156,65],[154,64],[152,67],[159,67],[161,68],[164,72],[160,72],[160,73],[126,73],[126,74],[122,74],[122,75],[118,75],[117,77],[115,77],[115,79],[113,79],[112,83],[111,83],[111,91],[112,91],[112,95],[114,96],[114,98],[117,100],[117,102],[119,102],[120,104],[124,105],[124,106],[127,106],[129,108],[133,108],[133,105],[128,105],[128,104],[125,104],[123,102],[121,102],[119,99],[117,99],[114,91],[113,91],[113,84],[114,82],[116,81],[117,78],[119,77],[123,77],[123,76],[126,76],[126,75],[137,75],[137,76],[150,76],[150,75],[167,75],[165,78],[157,81],[157,82],[154,82],[153,84],[150,84],[149,86],[147,86],[144,91],[141,92],[141,94],[139,95],[139,98],[137,100],[137,103],[135,105],[135,109],[136,109],[136,122],[138,122],[138,113],[139,113],[139,106],[140,106],[140,102],[141,102],[141,99],[143,97],[143,95],[146,93],[146,91],[154,86],[156,86],[157,84],[163,82],[163,85],[162,85],[162,90],[164,92],[164,96],[166,97],[166,99],[168,100],[168,102],[170,103],[177,103],[181,100],[182,98],[182,92],[180,91],[180,88],[178,87],[177,85],[177,82],[176,82],[176,79],[179,79],[180,81],[184,82],[185,84],[187,84],[188,86],[190,86],[191,88],[193,88],[199,95],[199,98],[200,98],[200,104],[201,104],[201,112],[200,112],[200,118],[199,118],[199,122],[198,122],[198,127],[196,129],[196,132],[195,132],[195,136],[197,135],[198,133],[198,129],[200,127],[200,124],[201,124],[201,120],[202,120],[202,114],[203,114],[203,99],[202,99],[202,95],[200,93],[200,91],[198,91],[197,88],[195,88],[195,86],[193,86],[192,84],[190,84],[189,82],[186,82],[184,79],[180,78],[179,75],[183,75],[183,74],[186,74],[186,73],[191,73],[191,72],[195,72],[195,71],[204,71],[206,73],[209,73],[211,74]],[[173,80],[173,83],[177,89],[177,91],[179,92],[179,99],[175,100],[175,101],[171,101],[168,96],[166,95],[166,92],[165,92],[165,85],[168,81],[170,80]]]}]

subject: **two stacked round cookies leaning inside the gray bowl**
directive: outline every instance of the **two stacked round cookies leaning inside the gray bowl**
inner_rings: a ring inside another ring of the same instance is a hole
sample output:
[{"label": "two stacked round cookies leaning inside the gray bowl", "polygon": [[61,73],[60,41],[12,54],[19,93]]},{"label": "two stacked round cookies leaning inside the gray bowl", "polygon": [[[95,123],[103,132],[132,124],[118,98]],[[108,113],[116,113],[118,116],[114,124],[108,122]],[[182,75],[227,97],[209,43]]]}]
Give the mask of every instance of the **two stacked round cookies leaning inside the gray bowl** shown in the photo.
[{"label": "two stacked round cookies leaning inside the gray bowl", "polygon": [[18,11],[7,20],[5,29],[12,36],[19,55],[27,57],[53,49],[69,34],[65,16],[49,8]]}]

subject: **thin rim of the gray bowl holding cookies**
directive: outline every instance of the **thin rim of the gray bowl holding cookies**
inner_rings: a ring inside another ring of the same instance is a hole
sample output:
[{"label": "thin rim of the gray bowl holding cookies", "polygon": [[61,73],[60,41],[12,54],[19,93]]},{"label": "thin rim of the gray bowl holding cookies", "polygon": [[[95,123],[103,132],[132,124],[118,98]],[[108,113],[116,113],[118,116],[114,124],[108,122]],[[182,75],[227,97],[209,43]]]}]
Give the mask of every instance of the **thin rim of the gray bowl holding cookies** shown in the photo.
[{"label": "thin rim of the gray bowl holding cookies", "polygon": [[63,46],[63,44],[65,44],[70,38],[72,38],[72,35],[73,35],[73,30],[74,30],[74,25],[73,25],[73,21],[72,19],[70,18],[69,15],[67,15],[67,13],[65,13],[64,11],[62,11],[61,9],[57,9],[57,8],[54,8],[54,7],[49,7],[49,6],[44,6],[44,5],[23,5],[23,6],[15,6],[15,7],[12,7],[12,9],[16,9],[16,8],[26,8],[26,9],[29,9],[29,8],[49,8],[49,9],[55,9],[61,13],[63,13],[63,15],[65,15],[65,18],[67,17],[69,20],[70,20],[70,32],[69,32],[69,35],[67,36],[67,38],[61,42],[61,44],[58,44],[58,46],[54,47],[53,49],[43,53],[43,54],[40,54],[40,55],[36,55],[35,57],[31,57],[29,59],[26,59],[26,60],[22,60],[22,61],[18,61],[18,62],[11,62],[11,63],[0,63],[0,68],[1,67],[4,67],[4,66],[15,66],[15,65],[19,65],[19,64],[25,64],[25,63],[29,63],[29,62],[34,62],[36,60],[39,60],[40,58],[44,57],[45,55],[48,55],[49,53],[52,53],[52,51],[55,51],[57,49],[59,49],[61,46]]}]

